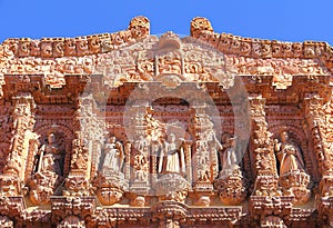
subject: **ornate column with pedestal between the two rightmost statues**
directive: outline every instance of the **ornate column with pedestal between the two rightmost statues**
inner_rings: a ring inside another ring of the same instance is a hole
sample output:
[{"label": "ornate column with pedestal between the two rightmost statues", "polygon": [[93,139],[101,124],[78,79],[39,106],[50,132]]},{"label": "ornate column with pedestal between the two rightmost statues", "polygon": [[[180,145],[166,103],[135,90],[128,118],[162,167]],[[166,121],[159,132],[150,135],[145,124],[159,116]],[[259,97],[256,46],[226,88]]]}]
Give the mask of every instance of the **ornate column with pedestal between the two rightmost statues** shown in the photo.
[{"label": "ornate column with pedestal between the two rightmost statues", "polygon": [[[265,119],[265,99],[261,95],[250,96],[252,138],[250,151],[255,175],[254,191],[250,197],[250,216],[253,227],[284,227],[281,217],[290,215],[293,197],[281,197],[278,185],[276,161],[271,133]],[[272,219],[274,215],[274,219]]]}]

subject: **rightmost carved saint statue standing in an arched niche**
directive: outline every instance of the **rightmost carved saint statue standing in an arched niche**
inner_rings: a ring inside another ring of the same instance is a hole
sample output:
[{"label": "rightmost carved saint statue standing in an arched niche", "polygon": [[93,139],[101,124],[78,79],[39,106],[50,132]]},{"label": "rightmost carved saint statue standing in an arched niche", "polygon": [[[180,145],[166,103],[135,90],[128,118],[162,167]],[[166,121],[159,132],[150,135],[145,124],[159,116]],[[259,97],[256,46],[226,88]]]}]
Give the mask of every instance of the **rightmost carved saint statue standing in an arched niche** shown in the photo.
[{"label": "rightmost carved saint statue standing in an arched niche", "polygon": [[274,150],[280,161],[280,176],[294,170],[304,170],[304,162],[299,147],[289,141],[286,131],[282,131],[280,138],[281,141],[274,140]]}]

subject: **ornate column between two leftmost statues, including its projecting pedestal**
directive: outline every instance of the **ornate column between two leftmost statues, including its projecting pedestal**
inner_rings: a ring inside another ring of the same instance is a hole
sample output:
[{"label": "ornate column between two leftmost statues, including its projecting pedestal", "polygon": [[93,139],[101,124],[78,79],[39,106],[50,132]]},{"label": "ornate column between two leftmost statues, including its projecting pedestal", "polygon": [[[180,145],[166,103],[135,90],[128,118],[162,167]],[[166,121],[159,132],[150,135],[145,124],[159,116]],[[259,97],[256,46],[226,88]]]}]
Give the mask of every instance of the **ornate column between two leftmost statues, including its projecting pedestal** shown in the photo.
[{"label": "ornate column between two leftmost statues, including its projecting pedestal", "polygon": [[70,172],[64,180],[62,197],[51,199],[52,224],[63,228],[85,228],[92,222],[91,216],[97,208],[97,199],[95,196],[90,196],[91,191],[95,190],[91,172],[97,171],[101,153],[100,143],[104,140],[105,132],[91,95],[78,98],[77,107]]}]

